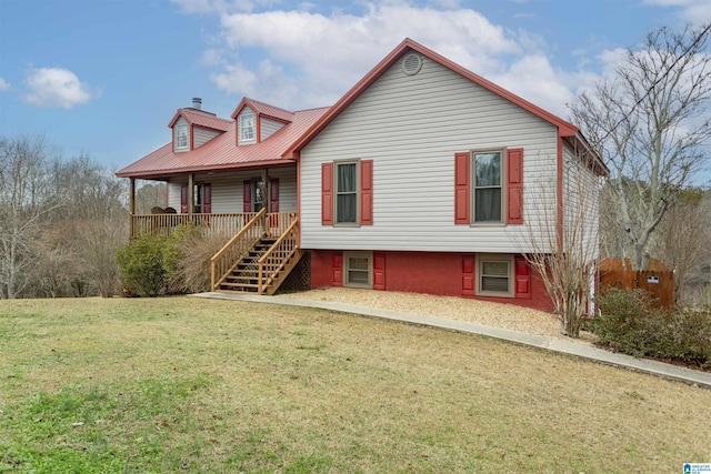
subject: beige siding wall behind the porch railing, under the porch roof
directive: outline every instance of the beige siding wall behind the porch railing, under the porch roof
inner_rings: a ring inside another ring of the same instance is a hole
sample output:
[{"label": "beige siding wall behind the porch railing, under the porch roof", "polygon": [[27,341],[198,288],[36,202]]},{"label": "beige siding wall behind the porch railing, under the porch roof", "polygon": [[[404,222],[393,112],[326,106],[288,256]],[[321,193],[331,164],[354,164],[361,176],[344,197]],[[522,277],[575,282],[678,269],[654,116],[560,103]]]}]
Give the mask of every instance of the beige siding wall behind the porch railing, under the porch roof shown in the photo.
[{"label": "beige siding wall behind the porch railing, under the porch roof", "polygon": [[[244,181],[261,177],[261,170],[196,174],[194,182],[212,185],[212,212],[240,213],[243,211]],[[279,178],[279,211],[297,212],[297,169],[276,168],[269,170],[270,178]],[[188,178],[173,178],[168,183],[169,205],[180,212],[180,188]]]}]

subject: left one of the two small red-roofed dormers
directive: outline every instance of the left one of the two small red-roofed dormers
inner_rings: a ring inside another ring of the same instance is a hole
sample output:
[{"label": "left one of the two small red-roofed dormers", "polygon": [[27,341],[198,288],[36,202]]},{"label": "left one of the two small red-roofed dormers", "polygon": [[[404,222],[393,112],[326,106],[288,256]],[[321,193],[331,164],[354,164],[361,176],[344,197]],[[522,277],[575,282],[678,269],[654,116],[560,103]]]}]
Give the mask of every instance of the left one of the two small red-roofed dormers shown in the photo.
[{"label": "left one of the two small red-roofed dormers", "polygon": [[173,134],[173,152],[194,150],[228,131],[231,120],[202,110],[202,99],[192,99],[192,107],[178,109],[168,127]]}]

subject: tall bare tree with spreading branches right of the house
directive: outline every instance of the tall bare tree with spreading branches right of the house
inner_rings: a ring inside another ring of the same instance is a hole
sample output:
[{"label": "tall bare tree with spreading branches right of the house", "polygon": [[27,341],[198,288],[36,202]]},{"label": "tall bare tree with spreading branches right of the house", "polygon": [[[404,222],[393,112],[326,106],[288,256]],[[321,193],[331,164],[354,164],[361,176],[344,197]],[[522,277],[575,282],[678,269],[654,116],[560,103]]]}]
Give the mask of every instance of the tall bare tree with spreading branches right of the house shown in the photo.
[{"label": "tall bare tree with spreading branches right of the house", "polygon": [[[570,105],[611,169],[610,192],[623,254],[648,268],[653,234],[675,194],[703,168],[711,137],[711,23],[648,34],[614,75]],[[705,115],[704,115],[705,113]]]}]

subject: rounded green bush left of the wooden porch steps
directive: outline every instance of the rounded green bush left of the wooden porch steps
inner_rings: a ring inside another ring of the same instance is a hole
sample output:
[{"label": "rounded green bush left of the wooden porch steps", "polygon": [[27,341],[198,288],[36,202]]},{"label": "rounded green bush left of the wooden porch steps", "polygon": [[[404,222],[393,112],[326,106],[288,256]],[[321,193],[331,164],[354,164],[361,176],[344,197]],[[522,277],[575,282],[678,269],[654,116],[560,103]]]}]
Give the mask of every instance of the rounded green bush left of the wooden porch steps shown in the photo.
[{"label": "rounded green bush left of the wooden porch steps", "polygon": [[126,290],[139,296],[160,296],[174,274],[174,244],[164,235],[144,234],[120,248],[116,261]]}]

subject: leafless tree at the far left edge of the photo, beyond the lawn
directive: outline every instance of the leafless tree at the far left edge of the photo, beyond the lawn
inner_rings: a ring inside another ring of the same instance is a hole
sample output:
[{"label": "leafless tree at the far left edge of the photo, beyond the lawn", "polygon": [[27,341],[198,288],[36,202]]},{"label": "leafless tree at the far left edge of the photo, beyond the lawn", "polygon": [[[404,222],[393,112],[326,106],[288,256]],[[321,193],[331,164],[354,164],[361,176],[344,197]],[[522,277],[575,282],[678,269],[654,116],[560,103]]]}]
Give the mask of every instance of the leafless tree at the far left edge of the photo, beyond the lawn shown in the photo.
[{"label": "leafless tree at the far left edge of the photo, beyond the lawn", "polygon": [[42,137],[0,138],[0,297],[14,299],[29,283],[32,244],[59,205],[47,192],[47,153]]}]

